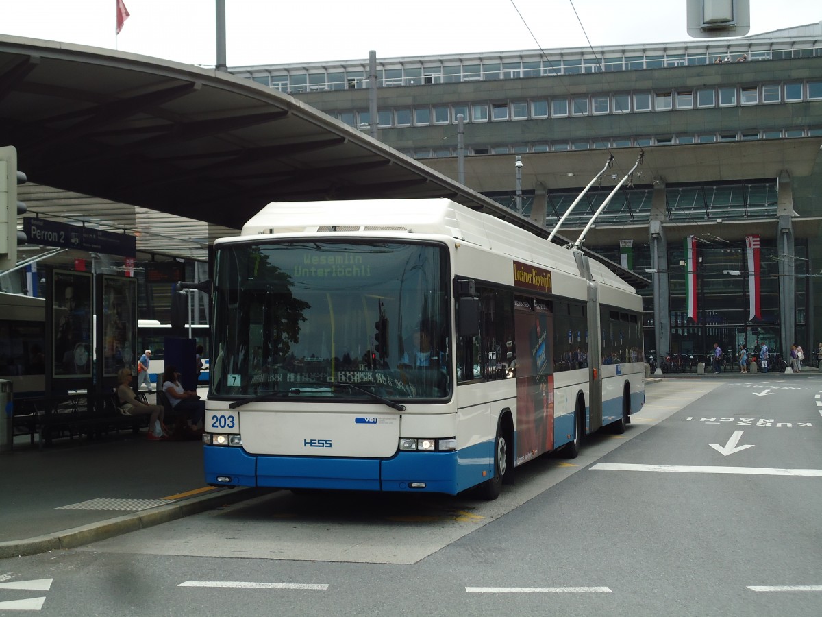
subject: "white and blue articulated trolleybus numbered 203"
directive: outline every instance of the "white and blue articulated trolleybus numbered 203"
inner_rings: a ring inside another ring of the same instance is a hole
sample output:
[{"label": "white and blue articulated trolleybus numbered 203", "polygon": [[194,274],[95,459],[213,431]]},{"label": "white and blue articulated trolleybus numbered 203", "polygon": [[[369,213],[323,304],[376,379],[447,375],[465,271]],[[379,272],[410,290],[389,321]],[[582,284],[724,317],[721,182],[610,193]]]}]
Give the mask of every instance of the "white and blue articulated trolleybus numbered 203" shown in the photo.
[{"label": "white and blue articulated trolleybus numbered 203", "polygon": [[447,199],[271,203],[212,301],[210,485],[494,499],[644,402],[635,290]]}]

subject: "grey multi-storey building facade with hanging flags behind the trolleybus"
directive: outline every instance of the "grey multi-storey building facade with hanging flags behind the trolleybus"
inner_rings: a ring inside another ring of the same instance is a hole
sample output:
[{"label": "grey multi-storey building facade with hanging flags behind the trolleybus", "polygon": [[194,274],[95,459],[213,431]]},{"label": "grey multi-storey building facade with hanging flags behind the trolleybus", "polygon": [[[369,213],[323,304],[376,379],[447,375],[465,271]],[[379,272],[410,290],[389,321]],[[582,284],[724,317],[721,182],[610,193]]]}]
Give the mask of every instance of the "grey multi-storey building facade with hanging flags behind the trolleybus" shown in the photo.
[{"label": "grey multi-storey building facade with hanging flags behind the trolleybus", "polygon": [[548,229],[596,178],[559,233],[608,200],[585,246],[649,278],[646,353],[687,361],[822,339],[820,35],[231,71]]}]

